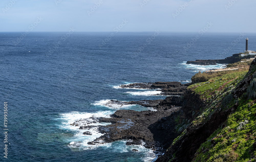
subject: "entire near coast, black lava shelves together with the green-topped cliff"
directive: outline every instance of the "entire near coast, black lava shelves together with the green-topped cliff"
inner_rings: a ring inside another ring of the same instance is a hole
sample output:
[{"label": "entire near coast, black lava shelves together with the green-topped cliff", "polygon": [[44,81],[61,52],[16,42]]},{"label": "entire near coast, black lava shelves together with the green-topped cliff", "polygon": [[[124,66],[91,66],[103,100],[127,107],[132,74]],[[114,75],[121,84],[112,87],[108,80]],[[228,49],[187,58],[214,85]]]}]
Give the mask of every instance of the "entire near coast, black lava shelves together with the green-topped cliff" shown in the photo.
[{"label": "entire near coast, black lava shelves together with the green-topped cliff", "polygon": [[[165,100],[110,100],[109,103],[119,105],[152,107],[155,111],[118,110],[111,118],[91,117],[71,125],[90,130],[96,127],[88,126],[90,123],[111,123],[98,125],[97,131],[103,135],[88,144],[126,139],[126,145],[143,145],[158,155],[164,153],[156,162],[255,161],[255,70],[256,60],[249,71],[209,75],[206,82],[201,83],[121,85],[121,88],[159,89],[175,96]],[[90,135],[91,132],[83,134]]]}]

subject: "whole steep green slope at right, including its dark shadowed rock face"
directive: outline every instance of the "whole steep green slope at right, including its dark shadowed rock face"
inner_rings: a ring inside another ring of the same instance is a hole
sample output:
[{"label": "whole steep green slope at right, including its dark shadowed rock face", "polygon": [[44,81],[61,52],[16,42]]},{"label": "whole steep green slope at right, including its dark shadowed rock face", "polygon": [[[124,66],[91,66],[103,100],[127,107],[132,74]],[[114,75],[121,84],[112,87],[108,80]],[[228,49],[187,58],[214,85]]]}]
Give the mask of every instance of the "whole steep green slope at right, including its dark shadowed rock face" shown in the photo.
[{"label": "whole steep green slope at right, including its dark shadowed rock face", "polygon": [[[249,72],[212,75],[189,86],[177,119],[181,134],[157,161],[256,161],[255,70],[256,60]],[[195,99],[202,104],[194,105]]]}]

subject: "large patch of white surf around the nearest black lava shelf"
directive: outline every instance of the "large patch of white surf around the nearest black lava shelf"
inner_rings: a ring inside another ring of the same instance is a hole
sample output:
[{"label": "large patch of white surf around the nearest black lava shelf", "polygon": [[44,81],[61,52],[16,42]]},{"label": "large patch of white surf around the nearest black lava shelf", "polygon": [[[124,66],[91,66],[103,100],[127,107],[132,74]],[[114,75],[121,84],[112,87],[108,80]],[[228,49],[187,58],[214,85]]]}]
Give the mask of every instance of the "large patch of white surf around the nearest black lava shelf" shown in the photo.
[{"label": "large patch of white surf around the nearest black lava shelf", "polygon": [[[103,102],[103,101],[102,101]],[[154,152],[151,149],[145,148],[143,145],[126,145],[127,140],[119,140],[112,143],[104,143],[104,141],[98,141],[102,144],[96,144],[96,145],[89,145],[88,142],[91,142],[95,140],[96,138],[100,137],[101,133],[97,131],[97,127],[88,129],[88,130],[80,130],[79,126],[72,126],[71,123],[78,121],[80,119],[90,118],[90,117],[106,117],[109,118],[109,114],[112,114],[113,111],[100,111],[95,113],[86,113],[86,112],[69,112],[69,113],[63,113],[60,114],[60,118],[57,120],[61,120],[61,125],[59,125],[60,129],[70,131],[74,133],[73,137],[70,137],[69,139],[66,139],[68,144],[68,147],[72,149],[78,150],[87,150],[87,149],[96,149],[98,147],[102,147],[105,149],[110,149],[113,152],[131,152],[133,149],[138,150],[138,152],[141,152],[144,154],[144,156],[141,157],[142,161],[145,162],[152,162],[155,161],[157,158],[157,155],[154,154]],[[108,125],[110,123],[92,123],[88,125]],[[83,132],[91,132],[92,135],[83,135]]]}]

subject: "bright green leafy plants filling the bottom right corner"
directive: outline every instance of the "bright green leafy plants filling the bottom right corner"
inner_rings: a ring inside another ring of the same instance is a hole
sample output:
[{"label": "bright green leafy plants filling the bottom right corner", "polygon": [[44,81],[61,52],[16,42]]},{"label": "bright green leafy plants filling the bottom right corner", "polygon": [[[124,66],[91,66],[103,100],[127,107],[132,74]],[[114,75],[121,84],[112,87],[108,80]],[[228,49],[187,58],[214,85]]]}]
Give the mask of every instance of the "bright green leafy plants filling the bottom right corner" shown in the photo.
[{"label": "bright green leafy plants filling the bottom right corner", "polygon": [[249,161],[256,155],[253,148],[256,141],[255,112],[256,104],[252,100],[240,100],[237,111],[229,115],[225,127],[201,144],[193,161]]}]

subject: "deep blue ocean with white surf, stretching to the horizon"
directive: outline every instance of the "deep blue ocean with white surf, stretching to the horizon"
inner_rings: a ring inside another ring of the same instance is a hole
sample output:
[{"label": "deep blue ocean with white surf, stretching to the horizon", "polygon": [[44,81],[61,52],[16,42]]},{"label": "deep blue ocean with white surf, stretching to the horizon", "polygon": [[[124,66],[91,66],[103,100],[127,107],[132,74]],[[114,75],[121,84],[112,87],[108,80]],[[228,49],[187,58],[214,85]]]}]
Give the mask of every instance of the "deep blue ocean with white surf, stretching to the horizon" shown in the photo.
[{"label": "deep blue ocean with white surf, stretching to the horizon", "polygon": [[[88,145],[101,134],[90,130],[91,136],[83,135],[86,130],[70,124],[92,116],[109,117],[119,109],[152,110],[105,105],[111,99],[165,98],[154,96],[155,90],[121,89],[121,84],[189,81],[198,71],[224,68],[185,63],[243,52],[246,37],[249,50],[256,50],[255,33],[127,32],[111,39],[107,39],[111,32],[23,33],[0,32],[0,119],[4,128],[4,102],[8,102],[9,129],[8,159],[3,157],[6,143],[1,140],[0,161],[154,161],[157,155],[151,149],[126,146],[126,140]],[[0,134],[4,139],[3,130]]]}]

